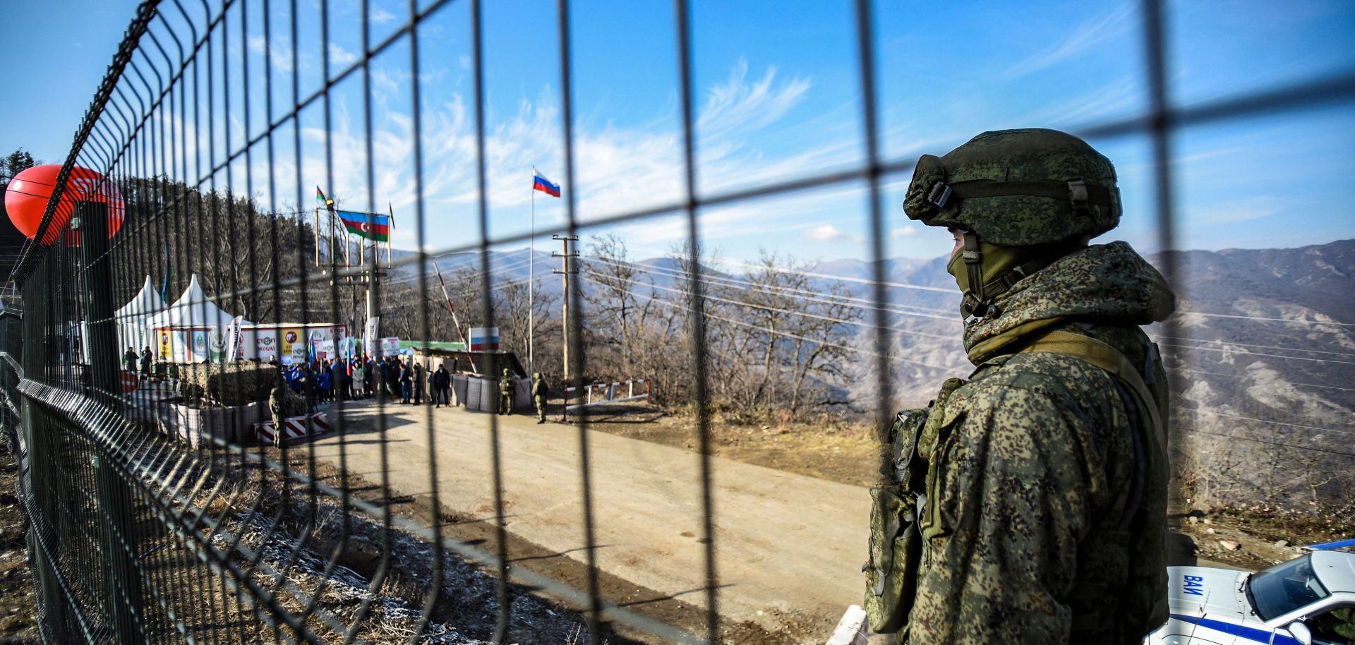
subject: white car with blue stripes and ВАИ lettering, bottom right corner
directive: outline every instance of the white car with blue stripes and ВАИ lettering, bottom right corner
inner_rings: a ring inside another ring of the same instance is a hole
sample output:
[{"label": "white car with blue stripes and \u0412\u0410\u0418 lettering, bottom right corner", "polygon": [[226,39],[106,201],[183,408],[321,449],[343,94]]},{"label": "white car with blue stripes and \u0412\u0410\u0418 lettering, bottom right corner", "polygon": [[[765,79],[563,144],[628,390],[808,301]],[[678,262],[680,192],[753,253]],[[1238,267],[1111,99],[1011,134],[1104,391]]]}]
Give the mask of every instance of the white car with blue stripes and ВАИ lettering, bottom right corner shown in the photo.
[{"label": "white car with blue stripes and \u0412\u0410\u0418 lettering, bottom right corner", "polygon": [[1259,573],[1169,566],[1171,619],[1148,645],[1355,645],[1355,553],[1314,545]]}]

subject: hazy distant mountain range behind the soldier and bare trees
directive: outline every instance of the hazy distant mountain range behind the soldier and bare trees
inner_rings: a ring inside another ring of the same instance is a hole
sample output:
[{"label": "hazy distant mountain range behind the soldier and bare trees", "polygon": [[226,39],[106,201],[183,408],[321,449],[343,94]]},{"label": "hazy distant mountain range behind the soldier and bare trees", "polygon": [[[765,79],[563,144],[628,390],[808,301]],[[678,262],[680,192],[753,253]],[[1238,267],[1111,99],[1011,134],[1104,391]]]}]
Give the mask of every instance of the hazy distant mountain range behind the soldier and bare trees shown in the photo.
[{"label": "hazy distant mountain range behind the soldier and bare trees", "polygon": [[[396,259],[412,253],[396,251]],[[493,251],[495,280],[528,276],[528,252]],[[1149,256],[1161,266],[1163,257]],[[1171,336],[1152,325],[1176,379],[1183,423],[1220,434],[1279,436],[1301,446],[1332,447],[1355,438],[1355,240],[1275,248],[1175,252],[1177,314]],[[478,253],[431,259],[449,276],[458,268],[478,268]],[[588,262],[587,257],[583,262]],[[897,404],[925,402],[939,381],[963,377],[972,366],[961,346],[959,295],[946,272],[947,257],[893,259],[886,271],[888,324],[896,329],[893,382]],[[411,276],[416,263],[398,274]],[[713,283],[740,287],[747,271],[730,263],[703,271]],[[535,276],[542,291],[558,295],[551,274],[560,259],[537,252]],[[640,279],[656,295],[672,295],[684,279],[672,257],[633,262]],[[805,293],[827,294],[837,287],[869,305],[873,301],[869,262],[837,259],[802,267]],[[744,289],[747,289],[747,285]],[[591,289],[585,280],[583,289]],[[733,293],[733,291],[732,291]],[[862,363],[871,354],[869,308],[859,309],[855,343]],[[1316,430],[1314,430],[1316,428]],[[1343,449],[1344,450],[1344,449]]]}]

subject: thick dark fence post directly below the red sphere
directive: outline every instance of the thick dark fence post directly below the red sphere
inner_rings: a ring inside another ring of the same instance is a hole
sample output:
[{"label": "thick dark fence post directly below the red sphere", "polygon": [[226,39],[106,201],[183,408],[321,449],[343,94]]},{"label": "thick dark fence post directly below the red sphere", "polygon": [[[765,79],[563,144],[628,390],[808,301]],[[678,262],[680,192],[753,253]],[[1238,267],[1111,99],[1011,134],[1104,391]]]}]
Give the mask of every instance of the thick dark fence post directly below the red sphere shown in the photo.
[{"label": "thick dark fence post directly below the red sphere", "polygon": [[[89,385],[93,398],[108,411],[122,405],[122,378],[118,335],[112,314],[112,264],[108,262],[108,206],[96,202],[76,205],[80,229],[80,264],[84,267],[85,346],[89,348]],[[106,417],[107,419],[107,417]],[[95,446],[95,497],[99,503],[100,545],[107,569],[107,603],[115,642],[146,642],[141,621],[141,577],[137,575],[136,507],[129,482],[114,469],[107,440],[100,428],[85,428]]]}]

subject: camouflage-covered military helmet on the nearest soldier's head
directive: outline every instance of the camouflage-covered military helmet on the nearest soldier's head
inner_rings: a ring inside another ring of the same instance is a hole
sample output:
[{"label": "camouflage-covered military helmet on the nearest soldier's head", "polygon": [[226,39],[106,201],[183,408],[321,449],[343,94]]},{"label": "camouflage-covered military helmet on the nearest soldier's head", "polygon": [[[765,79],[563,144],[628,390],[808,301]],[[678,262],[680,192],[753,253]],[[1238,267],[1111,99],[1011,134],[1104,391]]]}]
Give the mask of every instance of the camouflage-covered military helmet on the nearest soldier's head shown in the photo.
[{"label": "camouflage-covered military helmet on the nearest soldier's head", "polygon": [[904,211],[991,244],[1033,247],[1096,237],[1119,224],[1121,206],[1108,159],[1072,134],[1024,127],[923,154]]}]

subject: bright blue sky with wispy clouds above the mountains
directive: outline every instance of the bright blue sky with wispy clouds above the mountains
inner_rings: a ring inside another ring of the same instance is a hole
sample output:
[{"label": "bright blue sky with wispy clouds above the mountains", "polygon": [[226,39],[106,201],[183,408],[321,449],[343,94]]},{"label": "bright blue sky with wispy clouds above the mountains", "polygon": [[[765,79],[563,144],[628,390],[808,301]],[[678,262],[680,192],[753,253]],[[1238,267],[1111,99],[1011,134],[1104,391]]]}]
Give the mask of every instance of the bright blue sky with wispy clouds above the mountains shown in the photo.
[{"label": "bright blue sky with wispy clouds above the mountains", "polygon": [[[5,152],[23,146],[53,163],[107,66],[134,3],[39,4],[0,24],[8,42],[8,99],[0,118]],[[290,53],[279,34],[286,4],[272,3],[274,38],[262,35],[259,3],[226,23],[233,61],[232,119],[215,119],[221,150],[266,123],[264,53]],[[320,87],[320,8],[298,3],[302,95]],[[406,20],[405,3],[374,0],[373,42]],[[916,5],[877,3],[882,153],[889,160],[942,154],[992,129],[1075,130],[1117,121],[1148,104],[1141,69],[1138,3],[1038,1]],[[172,7],[172,5],[164,5]],[[240,7],[240,3],[236,4]],[[359,3],[329,7],[331,69],[360,51]],[[486,157],[493,237],[530,228],[531,167],[564,183],[558,42],[554,3],[485,3]],[[178,19],[176,19],[178,20]],[[179,20],[182,22],[182,20]],[[419,33],[425,228],[423,244],[476,244],[474,100],[469,3],[449,3]],[[715,195],[770,180],[850,168],[863,160],[860,91],[851,3],[694,1],[698,190]],[[672,8],[668,3],[573,3],[576,178],[581,222],[682,198],[682,138]],[[1355,4],[1168,3],[1171,98],[1201,104],[1355,69]],[[218,54],[221,51],[218,50]],[[290,103],[290,61],[272,62],[278,104]],[[220,58],[218,58],[220,60]],[[243,62],[251,77],[243,100]],[[263,149],[230,165],[217,187],[251,191],[279,209],[310,207],[314,184],[344,207],[397,215],[396,245],[415,248],[412,98],[408,38],[373,60],[374,190],[367,190],[360,75],[335,87],[331,129],[324,106],[305,110],[301,186],[293,125],[276,133],[276,194]],[[218,104],[222,93],[217,95]],[[247,110],[248,108],[248,110]],[[218,107],[218,115],[221,114]],[[275,110],[278,114],[279,110]],[[203,112],[206,115],[206,111]],[[1294,247],[1355,237],[1355,106],[1260,115],[1183,131],[1175,140],[1180,247]],[[168,119],[171,127],[179,123]],[[206,150],[207,126],[199,126]],[[228,141],[229,140],[229,141]],[[1153,251],[1150,148],[1144,136],[1093,140],[1115,161],[1126,205],[1126,238]],[[327,154],[327,145],[331,150]],[[327,157],[332,163],[327,163]],[[247,183],[248,180],[248,183]],[[948,248],[944,232],[904,217],[908,176],[889,178],[889,255],[930,257]],[[537,194],[541,195],[541,194]],[[759,249],[805,260],[866,257],[866,192],[836,186],[701,213],[707,245],[748,259]],[[564,202],[535,199],[538,226],[560,225]],[[402,225],[401,225],[402,224]],[[686,234],[679,215],[588,229],[614,232],[637,256],[659,255]],[[511,244],[512,247],[520,243]],[[538,247],[553,248],[549,237]]]}]

